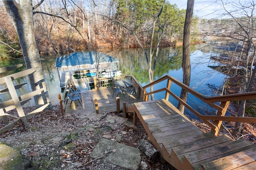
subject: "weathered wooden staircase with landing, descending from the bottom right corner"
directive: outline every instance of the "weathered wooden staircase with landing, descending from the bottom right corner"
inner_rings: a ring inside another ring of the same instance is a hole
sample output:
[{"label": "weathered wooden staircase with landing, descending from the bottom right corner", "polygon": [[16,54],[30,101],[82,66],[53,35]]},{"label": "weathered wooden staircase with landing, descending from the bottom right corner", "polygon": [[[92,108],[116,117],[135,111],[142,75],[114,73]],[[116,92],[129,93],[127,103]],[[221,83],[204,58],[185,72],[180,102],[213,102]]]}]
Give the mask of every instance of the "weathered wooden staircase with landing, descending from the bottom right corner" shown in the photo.
[{"label": "weathered wooden staircase with landing, descending from the bottom right corner", "polygon": [[178,170],[256,169],[253,143],[203,133],[168,100],[134,103],[134,112],[162,158]]}]

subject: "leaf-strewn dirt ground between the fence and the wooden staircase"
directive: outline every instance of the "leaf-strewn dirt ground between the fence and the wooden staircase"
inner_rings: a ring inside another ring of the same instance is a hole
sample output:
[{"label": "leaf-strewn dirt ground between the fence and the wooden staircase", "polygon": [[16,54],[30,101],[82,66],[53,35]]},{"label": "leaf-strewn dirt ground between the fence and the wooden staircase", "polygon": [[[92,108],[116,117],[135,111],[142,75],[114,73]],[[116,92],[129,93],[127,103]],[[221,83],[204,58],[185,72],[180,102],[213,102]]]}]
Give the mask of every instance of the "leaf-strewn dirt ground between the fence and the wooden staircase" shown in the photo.
[{"label": "leaf-strewn dirt ground between the fence and the wooden staircase", "polygon": [[[138,130],[134,130],[118,123],[107,122],[105,119],[83,121],[75,114],[62,116],[58,106],[55,107],[56,110],[46,109],[31,117],[28,120],[29,129],[19,123],[10,131],[0,135],[1,143],[20,150],[28,160],[26,167],[28,170],[122,170],[116,165],[105,162],[104,158],[98,160],[90,158],[90,153],[100,139],[106,135],[116,141],[115,134],[120,133],[122,135],[120,143],[131,147],[138,147],[141,139],[148,139],[140,123]],[[2,122],[0,125],[3,125]],[[102,125],[111,127],[111,130],[97,133]],[[70,133],[70,139],[58,138],[64,133]],[[71,148],[62,145],[70,145]],[[167,162],[158,161],[153,164],[142,153],[141,157],[140,170],[174,169]],[[90,161],[92,162],[88,163]]]}]

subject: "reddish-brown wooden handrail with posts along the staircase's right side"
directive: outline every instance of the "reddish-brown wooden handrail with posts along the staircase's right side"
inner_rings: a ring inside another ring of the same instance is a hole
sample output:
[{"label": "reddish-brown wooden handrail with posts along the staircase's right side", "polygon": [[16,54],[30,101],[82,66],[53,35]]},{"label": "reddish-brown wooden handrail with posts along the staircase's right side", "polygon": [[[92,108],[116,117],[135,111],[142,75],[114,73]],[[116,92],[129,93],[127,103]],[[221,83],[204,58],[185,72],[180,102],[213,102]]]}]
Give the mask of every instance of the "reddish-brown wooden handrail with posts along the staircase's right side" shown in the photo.
[{"label": "reddish-brown wooden handrail with posts along the staircase's right side", "polygon": [[[163,81],[167,80],[166,87],[155,90],[153,92],[146,92],[146,88],[149,88],[150,86],[154,86],[155,84],[162,83]],[[188,105],[186,102],[181,100],[176,94],[174,94],[172,91],[170,91],[171,83],[175,83],[184,90],[186,90],[188,93],[192,94],[196,98],[202,100],[204,103],[210,105],[212,108],[216,109],[217,114],[216,115],[202,115],[199,113],[196,109],[192,108],[190,105]],[[196,115],[198,118],[200,118],[204,123],[207,123],[211,127],[211,133],[214,135],[218,135],[220,125],[222,121],[234,121],[234,122],[244,122],[244,123],[256,123],[256,117],[233,117],[233,116],[224,116],[228,105],[231,101],[237,101],[237,100],[255,100],[256,99],[256,92],[247,92],[247,93],[241,93],[241,94],[230,94],[230,95],[223,95],[223,96],[214,96],[214,97],[206,97],[203,94],[200,94],[196,90],[193,90],[189,86],[186,86],[185,84],[179,82],[175,78],[166,75],[162,78],[159,78],[158,80],[155,80],[154,82],[142,87],[143,92],[143,101],[148,101],[150,94],[155,94],[158,92],[165,91],[165,99],[169,99],[169,95],[172,95],[178,102],[183,104],[188,110],[190,110],[194,115]],[[220,103],[220,105],[216,104]]]}]

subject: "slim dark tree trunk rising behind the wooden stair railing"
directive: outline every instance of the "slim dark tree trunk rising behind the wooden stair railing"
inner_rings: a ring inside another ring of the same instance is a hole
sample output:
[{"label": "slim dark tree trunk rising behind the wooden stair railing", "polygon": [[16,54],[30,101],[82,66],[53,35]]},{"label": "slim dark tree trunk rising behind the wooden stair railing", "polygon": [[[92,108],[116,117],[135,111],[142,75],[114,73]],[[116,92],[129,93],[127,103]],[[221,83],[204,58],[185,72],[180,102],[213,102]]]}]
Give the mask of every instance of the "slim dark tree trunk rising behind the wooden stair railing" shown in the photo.
[{"label": "slim dark tree trunk rising behind the wooden stair railing", "polygon": [[[187,3],[187,11],[186,18],[184,23],[184,31],[183,31],[183,47],[182,47],[182,69],[183,69],[183,83],[189,86],[190,84],[190,35],[191,35],[191,24],[192,24],[192,16],[194,9],[194,0],[188,0]],[[182,88],[180,93],[180,98],[186,102],[187,101],[188,92]],[[178,104],[178,109],[184,113],[184,105]]]}]

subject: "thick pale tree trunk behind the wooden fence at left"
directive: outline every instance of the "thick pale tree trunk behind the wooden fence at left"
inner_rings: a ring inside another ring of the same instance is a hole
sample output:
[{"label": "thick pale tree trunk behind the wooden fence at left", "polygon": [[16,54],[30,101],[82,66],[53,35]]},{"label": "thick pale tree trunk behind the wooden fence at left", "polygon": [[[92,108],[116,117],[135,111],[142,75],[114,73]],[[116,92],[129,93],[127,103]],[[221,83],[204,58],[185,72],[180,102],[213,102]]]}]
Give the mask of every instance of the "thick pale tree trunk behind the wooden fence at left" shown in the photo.
[{"label": "thick pale tree trunk behind the wooden fence at left", "polygon": [[4,6],[12,21],[20,41],[26,68],[39,67],[36,72],[29,75],[32,90],[44,88],[44,91],[34,96],[37,106],[49,103],[48,92],[44,81],[40,56],[34,36],[34,22],[32,12],[32,0],[3,0]]}]

